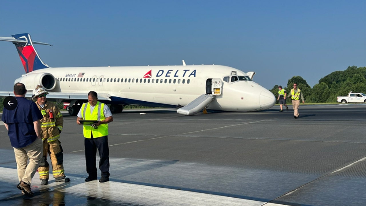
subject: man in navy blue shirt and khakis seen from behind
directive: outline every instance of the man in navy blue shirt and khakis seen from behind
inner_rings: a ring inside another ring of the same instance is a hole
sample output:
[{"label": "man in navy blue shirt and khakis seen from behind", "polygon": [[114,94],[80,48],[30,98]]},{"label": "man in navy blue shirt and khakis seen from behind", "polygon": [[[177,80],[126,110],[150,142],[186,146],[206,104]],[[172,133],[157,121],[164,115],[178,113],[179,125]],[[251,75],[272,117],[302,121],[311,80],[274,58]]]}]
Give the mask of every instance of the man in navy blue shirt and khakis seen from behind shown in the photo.
[{"label": "man in navy blue shirt and khakis seen from behind", "polygon": [[[8,130],[11,146],[14,148],[19,184],[16,186],[23,194],[33,195],[30,184],[38,165],[41,163],[43,144],[41,122],[43,118],[36,103],[27,100],[27,90],[22,83],[14,85],[18,105],[14,110],[4,108],[1,121]],[[29,164],[27,160],[29,159]]]}]

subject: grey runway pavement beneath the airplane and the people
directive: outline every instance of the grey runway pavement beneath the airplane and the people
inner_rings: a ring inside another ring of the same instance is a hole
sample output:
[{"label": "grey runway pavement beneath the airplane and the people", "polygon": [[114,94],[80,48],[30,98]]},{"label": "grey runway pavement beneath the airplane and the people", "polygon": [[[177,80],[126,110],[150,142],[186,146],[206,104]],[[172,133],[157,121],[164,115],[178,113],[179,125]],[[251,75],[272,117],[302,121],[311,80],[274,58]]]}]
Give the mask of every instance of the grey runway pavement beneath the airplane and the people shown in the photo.
[{"label": "grey runway pavement beneath the airplane and the people", "polygon": [[115,114],[108,183],[85,183],[82,126],[64,114],[60,141],[71,182],[41,186],[36,173],[33,197],[16,188],[14,152],[1,125],[0,204],[366,205],[366,105],[301,104],[298,119],[289,108]]}]

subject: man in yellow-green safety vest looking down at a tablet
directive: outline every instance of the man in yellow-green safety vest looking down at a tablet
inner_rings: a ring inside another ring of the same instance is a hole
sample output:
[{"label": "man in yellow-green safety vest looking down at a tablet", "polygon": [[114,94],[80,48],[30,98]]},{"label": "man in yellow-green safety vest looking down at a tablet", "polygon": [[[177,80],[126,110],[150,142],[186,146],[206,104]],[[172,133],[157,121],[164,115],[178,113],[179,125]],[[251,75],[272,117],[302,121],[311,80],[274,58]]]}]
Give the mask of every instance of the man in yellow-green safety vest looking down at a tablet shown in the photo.
[{"label": "man in yellow-green safety vest looking down at a tablet", "polygon": [[92,125],[83,125],[86,172],[89,176],[86,182],[97,179],[96,152],[99,151],[99,169],[102,172],[100,183],[109,181],[109,147],[108,123],[113,121],[111,110],[104,103],[98,102],[97,92],[88,93],[88,102],[83,103],[78,113],[76,123],[80,120],[96,120]]}]

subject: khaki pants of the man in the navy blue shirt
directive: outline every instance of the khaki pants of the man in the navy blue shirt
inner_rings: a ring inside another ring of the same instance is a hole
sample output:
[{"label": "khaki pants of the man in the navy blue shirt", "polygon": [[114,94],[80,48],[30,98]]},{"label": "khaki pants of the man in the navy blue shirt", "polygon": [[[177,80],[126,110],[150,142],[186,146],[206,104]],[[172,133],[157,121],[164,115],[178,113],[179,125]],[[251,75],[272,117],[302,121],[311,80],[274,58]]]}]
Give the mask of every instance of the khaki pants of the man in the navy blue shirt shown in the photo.
[{"label": "khaki pants of the man in the navy blue shirt", "polygon": [[[32,183],[32,178],[42,160],[42,140],[36,139],[26,147],[14,148],[19,182]],[[29,164],[27,163],[29,159]]]}]

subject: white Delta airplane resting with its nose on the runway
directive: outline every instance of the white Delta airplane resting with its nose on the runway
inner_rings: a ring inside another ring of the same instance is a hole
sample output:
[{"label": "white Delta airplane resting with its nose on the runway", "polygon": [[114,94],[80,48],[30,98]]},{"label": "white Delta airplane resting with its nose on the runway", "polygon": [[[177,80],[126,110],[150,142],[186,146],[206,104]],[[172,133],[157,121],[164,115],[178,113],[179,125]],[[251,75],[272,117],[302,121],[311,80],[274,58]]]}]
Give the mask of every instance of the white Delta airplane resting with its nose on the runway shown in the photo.
[{"label": "white Delta airplane resting with its nose on the runway", "polygon": [[[37,85],[49,91],[48,100],[70,102],[69,114],[76,115],[87,93],[96,91],[98,100],[111,104],[112,113],[124,105],[178,108],[183,115],[205,109],[260,111],[275,105],[272,92],[252,81],[254,72],[220,65],[49,67],[38,55],[30,34],[0,37],[15,44],[26,74],[22,82],[31,98]],[[4,68],[2,68],[4,69]],[[0,92],[11,96],[13,92]]]}]

